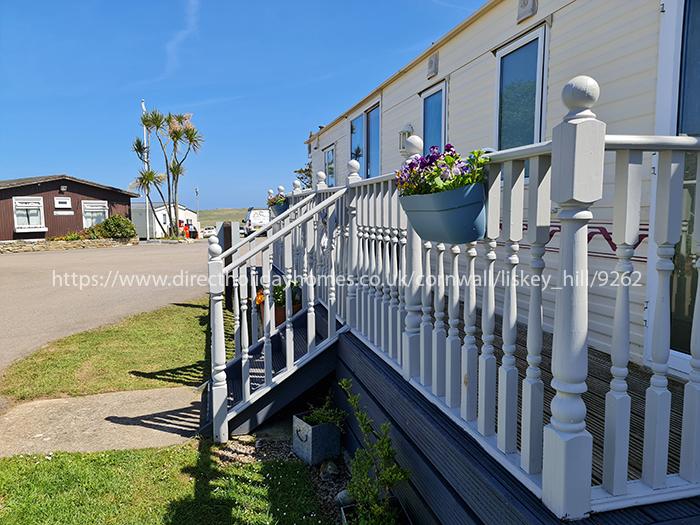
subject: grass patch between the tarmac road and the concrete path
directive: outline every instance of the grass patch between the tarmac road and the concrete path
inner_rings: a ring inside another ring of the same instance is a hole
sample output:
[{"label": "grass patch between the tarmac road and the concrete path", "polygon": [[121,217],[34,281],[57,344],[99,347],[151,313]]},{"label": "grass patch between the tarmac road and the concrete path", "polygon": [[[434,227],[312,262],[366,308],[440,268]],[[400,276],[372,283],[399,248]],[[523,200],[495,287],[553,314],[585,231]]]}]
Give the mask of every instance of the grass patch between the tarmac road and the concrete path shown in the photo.
[{"label": "grass patch between the tarmac road and the concrete path", "polygon": [[[211,373],[209,337],[208,298],[134,315],[54,341],[13,363],[0,378],[0,395],[28,401],[196,387]],[[234,352],[230,333],[226,346],[230,359]]]}]

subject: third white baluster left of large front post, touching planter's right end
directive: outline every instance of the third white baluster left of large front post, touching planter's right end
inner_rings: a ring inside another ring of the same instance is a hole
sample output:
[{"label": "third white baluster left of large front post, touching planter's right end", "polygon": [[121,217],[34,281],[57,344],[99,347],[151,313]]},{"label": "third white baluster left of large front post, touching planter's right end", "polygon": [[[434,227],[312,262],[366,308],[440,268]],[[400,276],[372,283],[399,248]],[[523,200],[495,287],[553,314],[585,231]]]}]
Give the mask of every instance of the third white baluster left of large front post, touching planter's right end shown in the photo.
[{"label": "third white baluster left of large front post, touching planter's right end", "polygon": [[483,304],[481,308],[481,356],[479,357],[479,414],[478,428],[482,436],[496,432],[496,357],[493,355],[494,327],[496,325],[496,239],[500,229],[501,171],[500,165],[489,165],[486,193],[486,237],[484,263],[486,265]]}]

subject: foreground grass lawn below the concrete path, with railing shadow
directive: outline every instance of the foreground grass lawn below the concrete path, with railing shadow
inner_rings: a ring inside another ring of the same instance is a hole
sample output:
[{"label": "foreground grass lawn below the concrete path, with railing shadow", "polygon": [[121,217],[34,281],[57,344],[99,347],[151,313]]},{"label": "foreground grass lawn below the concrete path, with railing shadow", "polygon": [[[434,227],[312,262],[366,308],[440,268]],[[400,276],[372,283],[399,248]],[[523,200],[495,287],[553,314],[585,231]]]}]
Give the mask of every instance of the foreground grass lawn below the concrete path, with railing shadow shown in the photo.
[{"label": "foreground grass lawn below the concrete path, with railing shadow", "polygon": [[300,461],[222,462],[211,441],[0,458],[0,523],[318,524]]}]

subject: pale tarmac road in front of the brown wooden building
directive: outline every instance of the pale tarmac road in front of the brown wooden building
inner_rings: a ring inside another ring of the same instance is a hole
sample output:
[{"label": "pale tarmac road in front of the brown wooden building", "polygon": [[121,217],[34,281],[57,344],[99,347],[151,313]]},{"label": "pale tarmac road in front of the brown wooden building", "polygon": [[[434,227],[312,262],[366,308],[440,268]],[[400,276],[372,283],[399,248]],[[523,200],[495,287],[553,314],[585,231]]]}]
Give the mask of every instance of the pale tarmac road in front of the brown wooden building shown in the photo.
[{"label": "pale tarmac road in front of the brown wooden building", "polygon": [[[204,297],[207,247],[141,243],[0,255],[0,370],[50,341]],[[153,277],[129,285],[131,276]]]}]

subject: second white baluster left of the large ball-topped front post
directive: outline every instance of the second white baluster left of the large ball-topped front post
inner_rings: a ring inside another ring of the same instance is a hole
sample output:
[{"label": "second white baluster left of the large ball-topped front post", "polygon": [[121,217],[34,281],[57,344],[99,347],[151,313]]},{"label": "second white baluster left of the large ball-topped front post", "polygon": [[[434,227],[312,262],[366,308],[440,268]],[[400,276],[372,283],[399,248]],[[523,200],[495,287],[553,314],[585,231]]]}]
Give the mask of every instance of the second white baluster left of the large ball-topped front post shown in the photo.
[{"label": "second white baluster left of the large ball-topped front post", "polygon": [[525,163],[503,166],[503,238],[506,240],[508,279],[503,301],[503,359],[498,371],[498,448],[510,454],[518,448],[518,369],[515,341],[518,336],[517,271],[519,241],[523,238]]}]

